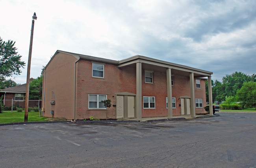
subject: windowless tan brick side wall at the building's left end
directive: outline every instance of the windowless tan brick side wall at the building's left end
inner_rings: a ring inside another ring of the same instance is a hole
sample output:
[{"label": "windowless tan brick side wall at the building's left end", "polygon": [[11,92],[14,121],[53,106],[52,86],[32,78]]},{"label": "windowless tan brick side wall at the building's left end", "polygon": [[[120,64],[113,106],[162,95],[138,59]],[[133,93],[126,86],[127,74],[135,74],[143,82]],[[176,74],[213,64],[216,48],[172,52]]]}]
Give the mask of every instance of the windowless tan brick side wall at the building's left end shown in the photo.
[{"label": "windowless tan brick side wall at the building's left end", "polygon": [[53,117],[74,118],[74,68],[76,58],[58,53],[51,60],[45,69],[45,117],[52,117],[50,114],[52,91],[55,93],[56,104]]}]

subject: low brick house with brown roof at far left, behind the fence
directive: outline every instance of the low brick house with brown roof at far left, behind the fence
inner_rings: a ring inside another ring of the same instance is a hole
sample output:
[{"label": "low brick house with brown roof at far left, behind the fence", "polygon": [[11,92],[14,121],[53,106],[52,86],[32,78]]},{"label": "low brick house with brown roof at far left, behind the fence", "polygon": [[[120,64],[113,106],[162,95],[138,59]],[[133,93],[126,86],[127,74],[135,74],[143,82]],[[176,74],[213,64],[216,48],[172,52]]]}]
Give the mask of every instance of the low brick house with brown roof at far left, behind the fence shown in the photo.
[{"label": "low brick house with brown roof at far left, behind the fence", "polygon": [[[30,78],[30,82],[32,82],[33,78]],[[12,88],[6,88],[0,90],[0,97],[3,97],[3,104],[6,107],[20,106],[25,108],[25,96],[26,96],[26,84],[21,84],[18,86],[14,86]],[[39,107],[41,108],[41,100],[29,100],[29,107]]]}]

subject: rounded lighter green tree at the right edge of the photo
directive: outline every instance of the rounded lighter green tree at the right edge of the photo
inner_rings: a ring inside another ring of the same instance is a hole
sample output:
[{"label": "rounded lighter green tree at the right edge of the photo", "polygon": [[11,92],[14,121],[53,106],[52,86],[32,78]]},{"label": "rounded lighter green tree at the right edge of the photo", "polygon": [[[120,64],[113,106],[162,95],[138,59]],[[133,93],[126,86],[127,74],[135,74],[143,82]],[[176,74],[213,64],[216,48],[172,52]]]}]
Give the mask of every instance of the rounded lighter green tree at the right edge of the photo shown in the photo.
[{"label": "rounded lighter green tree at the right edge of the photo", "polygon": [[245,82],[236,96],[244,108],[256,108],[256,82]]}]

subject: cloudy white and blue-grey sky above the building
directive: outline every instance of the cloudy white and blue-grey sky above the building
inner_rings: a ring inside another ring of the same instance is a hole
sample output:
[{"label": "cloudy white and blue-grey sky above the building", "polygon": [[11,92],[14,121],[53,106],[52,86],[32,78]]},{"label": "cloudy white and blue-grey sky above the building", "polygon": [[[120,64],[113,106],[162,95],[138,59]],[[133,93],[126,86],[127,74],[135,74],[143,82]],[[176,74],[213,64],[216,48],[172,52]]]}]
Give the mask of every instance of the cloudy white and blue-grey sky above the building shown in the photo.
[{"label": "cloudy white and blue-grey sky above the building", "polygon": [[[256,0],[0,0],[0,37],[16,41],[30,77],[56,50],[113,60],[143,55],[212,71],[256,73]],[[26,83],[25,66],[15,82]]]}]

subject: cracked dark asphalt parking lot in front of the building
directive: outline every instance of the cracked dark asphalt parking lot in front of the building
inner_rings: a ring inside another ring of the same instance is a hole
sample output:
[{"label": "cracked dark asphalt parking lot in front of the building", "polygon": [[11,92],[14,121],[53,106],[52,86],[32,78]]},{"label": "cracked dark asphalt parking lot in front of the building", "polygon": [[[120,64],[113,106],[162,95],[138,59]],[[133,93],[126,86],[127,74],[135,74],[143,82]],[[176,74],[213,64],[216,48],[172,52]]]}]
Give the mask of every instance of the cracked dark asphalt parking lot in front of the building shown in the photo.
[{"label": "cracked dark asphalt parking lot in front of the building", "polygon": [[256,168],[256,113],[0,126],[0,167]]}]

